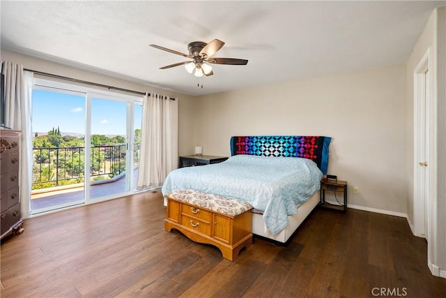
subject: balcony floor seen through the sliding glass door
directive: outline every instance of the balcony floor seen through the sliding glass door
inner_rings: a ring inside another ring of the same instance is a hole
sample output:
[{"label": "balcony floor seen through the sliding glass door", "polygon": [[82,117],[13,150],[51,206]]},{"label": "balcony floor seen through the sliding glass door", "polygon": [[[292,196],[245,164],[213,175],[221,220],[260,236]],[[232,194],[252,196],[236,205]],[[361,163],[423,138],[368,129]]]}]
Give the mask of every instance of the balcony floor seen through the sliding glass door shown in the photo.
[{"label": "balcony floor seen through the sliding glass door", "polygon": [[[138,179],[137,169],[134,170],[133,177],[133,185],[136,186]],[[125,175],[115,181],[102,184],[93,184],[90,186],[90,195],[93,199],[123,192],[125,192]],[[45,197],[32,199],[31,210],[43,209],[52,206],[56,207],[59,204],[82,204],[83,201],[84,188],[80,187],[79,191],[59,191],[57,194],[51,195],[51,193],[49,193],[49,195]]]}]

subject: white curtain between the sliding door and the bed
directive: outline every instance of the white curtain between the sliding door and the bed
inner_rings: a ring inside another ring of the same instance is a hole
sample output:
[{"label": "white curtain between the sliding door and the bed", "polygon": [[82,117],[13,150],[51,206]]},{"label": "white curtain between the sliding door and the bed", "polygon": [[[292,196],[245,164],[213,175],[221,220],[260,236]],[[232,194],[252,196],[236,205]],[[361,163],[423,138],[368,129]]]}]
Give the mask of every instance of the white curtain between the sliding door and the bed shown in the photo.
[{"label": "white curtain between the sliding door and the bed", "polygon": [[137,189],[162,186],[178,167],[178,100],[144,96]]}]

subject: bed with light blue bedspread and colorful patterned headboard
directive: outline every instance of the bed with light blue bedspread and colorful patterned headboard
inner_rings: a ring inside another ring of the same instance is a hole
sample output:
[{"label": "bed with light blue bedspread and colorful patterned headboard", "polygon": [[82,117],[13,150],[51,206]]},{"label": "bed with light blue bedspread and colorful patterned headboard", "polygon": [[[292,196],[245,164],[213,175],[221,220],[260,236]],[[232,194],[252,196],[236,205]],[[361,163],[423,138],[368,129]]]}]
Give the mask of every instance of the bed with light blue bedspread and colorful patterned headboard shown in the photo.
[{"label": "bed with light blue bedspread and colorful patterned headboard", "polygon": [[231,137],[231,157],[222,163],[169,173],[166,195],[195,189],[252,204],[252,233],[285,243],[318,204],[328,167],[330,137]]}]

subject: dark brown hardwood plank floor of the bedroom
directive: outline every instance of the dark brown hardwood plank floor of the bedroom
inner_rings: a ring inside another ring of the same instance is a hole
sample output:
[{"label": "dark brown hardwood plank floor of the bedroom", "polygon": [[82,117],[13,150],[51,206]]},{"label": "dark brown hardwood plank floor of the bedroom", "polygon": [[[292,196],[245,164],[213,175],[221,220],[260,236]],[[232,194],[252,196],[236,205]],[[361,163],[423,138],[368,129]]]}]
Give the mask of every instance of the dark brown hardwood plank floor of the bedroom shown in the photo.
[{"label": "dark brown hardwood plank floor of the bedroom", "polygon": [[316,209],[289,245],[254,238],[230,262],[164,231],[164,217],[161,193],[148,192],[26,220],[1,244],[0,295],[445,297],[405,218]]}]

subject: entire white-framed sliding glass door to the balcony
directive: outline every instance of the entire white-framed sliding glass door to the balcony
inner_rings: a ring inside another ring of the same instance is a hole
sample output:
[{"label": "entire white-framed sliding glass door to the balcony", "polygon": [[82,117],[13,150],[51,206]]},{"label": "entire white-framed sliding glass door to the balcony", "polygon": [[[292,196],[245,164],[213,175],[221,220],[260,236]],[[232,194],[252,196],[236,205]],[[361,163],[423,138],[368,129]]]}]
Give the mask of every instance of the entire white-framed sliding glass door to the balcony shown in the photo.
[{"label": "entire white-framed sliding glass door to the balcony", "polygon": [[136,190],[141,98],[37,80],[31,214]]}]

